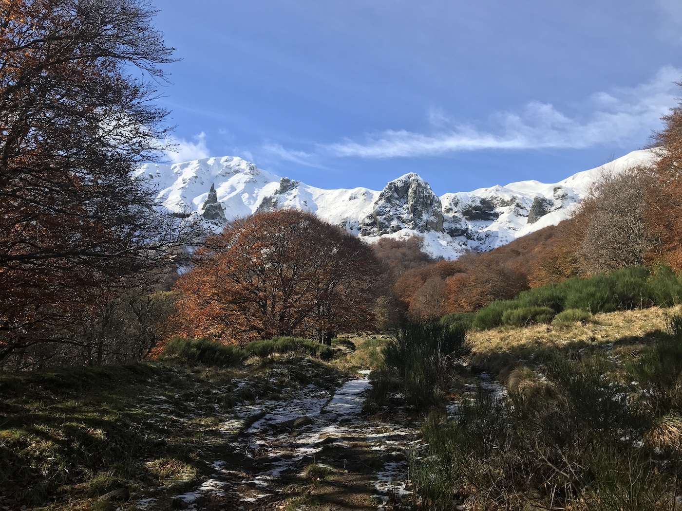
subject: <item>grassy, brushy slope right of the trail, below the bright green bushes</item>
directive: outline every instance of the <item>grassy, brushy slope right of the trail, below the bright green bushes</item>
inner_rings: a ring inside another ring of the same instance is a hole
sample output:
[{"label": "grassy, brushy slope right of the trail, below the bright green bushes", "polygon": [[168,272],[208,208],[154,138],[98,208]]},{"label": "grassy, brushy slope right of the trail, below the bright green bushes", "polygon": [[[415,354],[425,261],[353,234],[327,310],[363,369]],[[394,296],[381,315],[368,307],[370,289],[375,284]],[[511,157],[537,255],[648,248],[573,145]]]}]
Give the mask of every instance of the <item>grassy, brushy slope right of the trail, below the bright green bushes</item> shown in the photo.
[{"label": "grassy, brushy slope right of the trail, below the bright green bushes", "polygon": [[[470,330],[471,353],[437,383],[377,373],[373,406],[398,405],[400,392],[427,414],[411,502],[443,511],[675,509],[681,312],[651,307]],[[383,350],[385,367],[396,363],[394,342]],[[418,375],[421,358],[403,367]]]}]

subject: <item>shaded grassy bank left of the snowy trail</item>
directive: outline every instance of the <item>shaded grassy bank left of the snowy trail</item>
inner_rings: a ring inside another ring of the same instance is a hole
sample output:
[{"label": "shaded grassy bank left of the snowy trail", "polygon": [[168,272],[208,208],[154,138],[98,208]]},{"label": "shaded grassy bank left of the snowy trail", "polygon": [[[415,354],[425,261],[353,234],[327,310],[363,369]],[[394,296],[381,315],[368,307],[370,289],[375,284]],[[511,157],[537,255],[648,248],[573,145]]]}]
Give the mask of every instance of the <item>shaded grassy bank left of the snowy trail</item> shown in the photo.
[{"label": "shaded grassy bank left of the snowy trail", "polygon": [[224,347],[211,344],[209,363],[176,343],[164,363],[0,373],[0,506],[113,511],[145,497],[173,508],[263,416],[245,404],[284,405],[342,378],[296,351],[219,367]]}]

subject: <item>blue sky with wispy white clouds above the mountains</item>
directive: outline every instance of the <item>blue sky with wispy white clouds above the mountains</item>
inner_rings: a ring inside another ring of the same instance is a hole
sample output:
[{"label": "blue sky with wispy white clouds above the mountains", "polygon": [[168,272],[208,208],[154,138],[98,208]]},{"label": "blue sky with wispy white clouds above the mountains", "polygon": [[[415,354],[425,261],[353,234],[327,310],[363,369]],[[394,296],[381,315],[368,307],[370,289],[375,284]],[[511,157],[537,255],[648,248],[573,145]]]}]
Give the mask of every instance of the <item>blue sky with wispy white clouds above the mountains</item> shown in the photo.
[{"label": "blue sky with wispy white clouds above the mountains", "polygon": [[680,0],[158,0],[175,161],[321,188],[559,181],[682,95]]}]

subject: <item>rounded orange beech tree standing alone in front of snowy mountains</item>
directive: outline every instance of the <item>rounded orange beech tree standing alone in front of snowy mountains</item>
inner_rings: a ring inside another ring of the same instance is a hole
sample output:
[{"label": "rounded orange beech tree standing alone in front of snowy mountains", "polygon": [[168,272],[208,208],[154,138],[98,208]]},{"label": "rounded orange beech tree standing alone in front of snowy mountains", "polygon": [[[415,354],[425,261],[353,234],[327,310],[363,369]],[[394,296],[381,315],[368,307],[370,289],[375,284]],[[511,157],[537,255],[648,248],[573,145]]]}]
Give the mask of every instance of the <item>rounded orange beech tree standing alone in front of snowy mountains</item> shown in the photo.
[{"label": "rounded orange beech tree standing alone in front of snowy mountains", "polygon": [[178,333],[244,344],[278,336],[327,344],[374,326],[372,249],[310,213],[280,210],[228,223],[177,281]]}]

